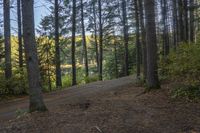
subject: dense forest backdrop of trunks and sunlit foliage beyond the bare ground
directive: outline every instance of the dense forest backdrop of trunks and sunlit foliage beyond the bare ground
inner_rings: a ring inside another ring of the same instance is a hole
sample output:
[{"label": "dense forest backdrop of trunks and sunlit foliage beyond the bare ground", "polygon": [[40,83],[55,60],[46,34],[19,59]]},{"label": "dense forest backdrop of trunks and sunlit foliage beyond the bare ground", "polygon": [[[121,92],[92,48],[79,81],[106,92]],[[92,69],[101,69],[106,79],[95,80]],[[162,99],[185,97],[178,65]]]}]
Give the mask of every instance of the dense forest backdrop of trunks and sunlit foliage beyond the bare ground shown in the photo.
[{"label": "dense forest backdrop of trunks and sunlit foliage beyond the bare ground", "polygon": [[[35,27],[42,91],[128,75],[147,81],[149,88],[159,88],[158,77],[199,86],[199,0],[44,3],[50,13]],[[23,4],[21,0],[0,1],[2,96],[29,94]],[[17,17],[12,18],[10,12]],[[17,29],[11,21],[17,22]]]}]

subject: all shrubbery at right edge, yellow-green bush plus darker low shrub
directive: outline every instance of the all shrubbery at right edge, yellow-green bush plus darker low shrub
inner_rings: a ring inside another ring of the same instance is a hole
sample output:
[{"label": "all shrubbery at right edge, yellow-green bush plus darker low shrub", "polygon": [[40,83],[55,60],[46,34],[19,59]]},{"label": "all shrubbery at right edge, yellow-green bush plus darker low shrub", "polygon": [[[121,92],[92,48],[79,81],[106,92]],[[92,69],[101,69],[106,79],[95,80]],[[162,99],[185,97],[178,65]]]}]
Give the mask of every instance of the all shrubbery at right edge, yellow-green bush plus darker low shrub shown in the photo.
[{"label": "all shrubbery at right edge, yellow-green bush plus darker low shrub", "polygon": [[160,75],[181,84],[172,91],[173,97],[200,98],[199,53],[198,44],[180,44],[177,51],[171,52],[167,59],[161,61]]}]

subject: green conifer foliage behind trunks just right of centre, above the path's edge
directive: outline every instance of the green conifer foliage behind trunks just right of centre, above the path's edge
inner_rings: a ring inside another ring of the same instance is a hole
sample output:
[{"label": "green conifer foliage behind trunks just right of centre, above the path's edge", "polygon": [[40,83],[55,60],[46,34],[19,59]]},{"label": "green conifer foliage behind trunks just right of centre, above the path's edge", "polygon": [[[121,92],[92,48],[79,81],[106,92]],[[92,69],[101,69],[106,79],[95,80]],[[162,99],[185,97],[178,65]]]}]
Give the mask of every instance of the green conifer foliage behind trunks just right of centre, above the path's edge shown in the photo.
[{"label": "green conifer foliage behind trunks just right of centre, above the path's edge", "polygon": [[[135,74],[136,50],[132,42],[135,37],[129,37],[129,73]],[[113,79],[124,76],[124,42],[122,36],[112,36],[106,44],[107,51],[104,52],[104,79]]]}]

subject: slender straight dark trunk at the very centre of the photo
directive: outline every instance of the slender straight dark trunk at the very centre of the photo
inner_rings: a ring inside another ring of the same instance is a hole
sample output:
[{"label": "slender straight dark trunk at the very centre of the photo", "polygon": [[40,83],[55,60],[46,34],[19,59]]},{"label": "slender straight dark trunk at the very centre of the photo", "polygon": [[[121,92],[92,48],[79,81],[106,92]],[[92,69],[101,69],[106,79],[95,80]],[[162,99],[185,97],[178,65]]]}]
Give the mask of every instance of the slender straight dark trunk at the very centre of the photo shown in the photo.
[{"label": "slender straight dark trunk at the very centre of the photo", "polygon": [[99,8],[99,80],[103,80],[103,26],[101,0],[98,0]]}]

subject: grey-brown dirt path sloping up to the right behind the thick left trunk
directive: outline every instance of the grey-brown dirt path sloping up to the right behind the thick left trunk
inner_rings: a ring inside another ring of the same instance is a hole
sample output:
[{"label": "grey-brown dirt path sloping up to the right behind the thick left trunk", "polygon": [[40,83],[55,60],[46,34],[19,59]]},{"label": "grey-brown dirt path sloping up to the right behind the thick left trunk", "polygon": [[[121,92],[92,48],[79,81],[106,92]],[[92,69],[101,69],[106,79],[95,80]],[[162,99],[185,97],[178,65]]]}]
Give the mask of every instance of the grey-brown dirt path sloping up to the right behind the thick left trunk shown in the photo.
[{"label": "grey-brown dirt path sloping up to the right behind the thick left trunk", "polygon": [[[133,84],[133,77],[124,77],[115,80],[90,83],[82,86],[71,87],[67,90],[56,91],[44,95],[45,103],[49,110],[68,101],[82,100],[85,97],[102,93],[107,90],[117,89],[129,84]],[[0,102],[0,122],[16,117],[16,111],[28,109],[28,97],[16,99],[15,101]]]}]

